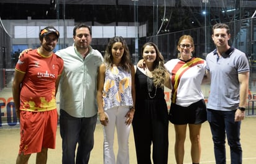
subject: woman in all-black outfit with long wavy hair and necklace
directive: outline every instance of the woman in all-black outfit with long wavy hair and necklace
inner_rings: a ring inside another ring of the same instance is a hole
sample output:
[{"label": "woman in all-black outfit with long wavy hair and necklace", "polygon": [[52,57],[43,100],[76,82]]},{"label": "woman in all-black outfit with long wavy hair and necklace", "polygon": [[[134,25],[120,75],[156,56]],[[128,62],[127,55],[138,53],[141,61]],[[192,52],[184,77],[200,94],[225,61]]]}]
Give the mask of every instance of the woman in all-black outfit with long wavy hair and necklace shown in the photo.
[{"label": "woman in all-black outfit with long wavy hair and necklace", "polygon": [[153,163],[167,164],[168,110],[164,85],[170,85],[170,75],[154,43],[145,43],[141,52],[144,68],[135,66],[136,111],[132,121],[137,163],[152,163],[153,144]]}]

